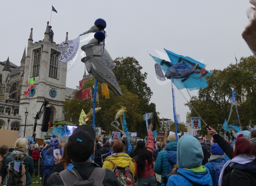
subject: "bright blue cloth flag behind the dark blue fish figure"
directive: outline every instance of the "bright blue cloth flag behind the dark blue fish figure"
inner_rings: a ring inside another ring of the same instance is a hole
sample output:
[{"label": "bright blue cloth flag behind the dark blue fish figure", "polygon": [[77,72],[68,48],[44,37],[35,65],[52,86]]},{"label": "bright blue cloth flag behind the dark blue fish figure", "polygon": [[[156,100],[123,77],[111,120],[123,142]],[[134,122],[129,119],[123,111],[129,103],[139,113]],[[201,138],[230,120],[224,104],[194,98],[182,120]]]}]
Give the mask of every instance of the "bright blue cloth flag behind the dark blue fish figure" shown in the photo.
[{"label": "bright blue cloth flag behind the dark blue fish figure", "polygon": [[[198,88],[205,88],[208,86],[206,83],[205,76],[211,75],[212,73],[204,69],[205,65],[203,63],[193,60],[193,58],[190,58],[190,57],[175,54],[166,49],[165,49],[165,52],[170,58],[171,63],[165,60],[162,60],[161,58],[150,55],[151,57],[153,57],[155,62],[161,66],[161,69],[165,72],[165,74],[169,72],[170,66],[174,65],[176,69],[177,64],[182,64],[182,63],[184,63],[184,65],[178,65],[180,66],[180,69],[178,71],[182,71],[182,73],[184,73],[184,71],[186,71],[186,73],[192,72],[193,69],[194,71],[196,71],[196,73],[191,73],[190,75],[188,75],[187,78],[180,78],[180,79],[172,78],[172,77],[169,78],[173,81],[173,83],[179,90],[184,88],[187,88],[188,90],[196,90]],[[185,64],[187,65],[187,69],[183,70],[183,66],[186,66]],[[179,75],[179,73],[175,75]]]}]

